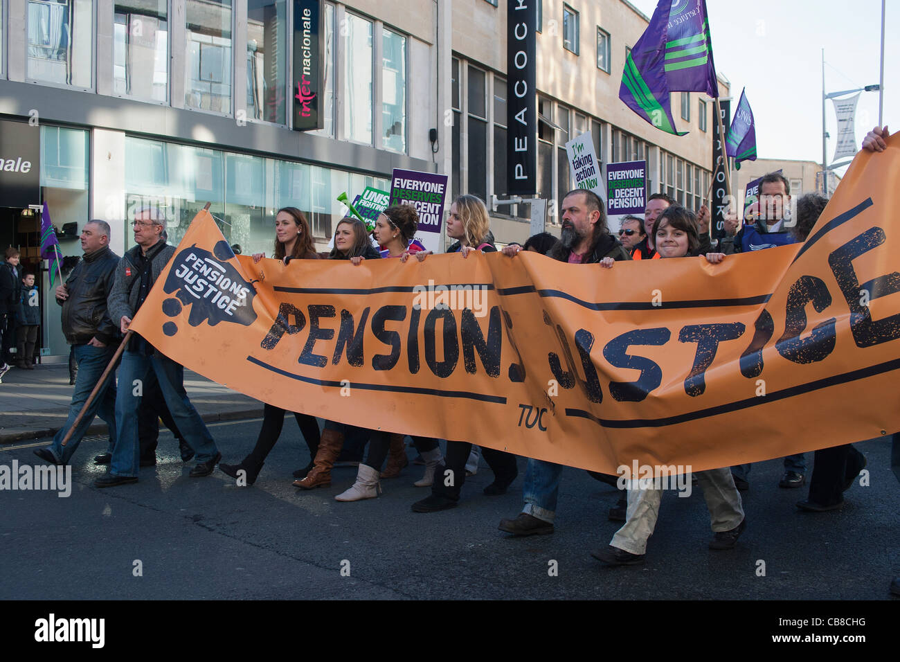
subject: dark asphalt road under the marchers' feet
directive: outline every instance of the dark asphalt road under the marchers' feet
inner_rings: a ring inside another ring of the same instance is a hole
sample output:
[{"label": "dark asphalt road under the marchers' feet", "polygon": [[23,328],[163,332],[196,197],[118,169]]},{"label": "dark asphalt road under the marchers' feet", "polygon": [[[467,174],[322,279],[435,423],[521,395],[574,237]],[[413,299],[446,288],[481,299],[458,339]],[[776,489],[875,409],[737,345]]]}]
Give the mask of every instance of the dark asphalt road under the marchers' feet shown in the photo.
[{"label": "dark asphalt road under the marchers' feet", "polygon": [[[259,426],[221,422],[211,431],[225,460],[237,462]],[[0,466],[38,463],[31,449],[47,441],[0,448]],[[497,524],[521,509],[522,458],[508,494],[482,495],[492,480],[482,460],[458,508],[419,514],[410,504],[428,488],[412,485],[422,469],[411,464],[383,481],[374,500],[334,501],[354,468],[335,469],[329,488],[297,491],[291,473],[309,452],[291,420],[251,487],[218,469],[189,478],[164,432],[159,463],[141,469],[138,484],[96,489],[103,468],[92,460],[104,448],[104,440],[85,440],[67,498],[0,492],[0,558],[14,566],[0,573],[0,599],[884,600],[900,574],[900,485],[887,440],[858,446],[869,458],[869,486],[854,485],[837,512],[798,512],[806,487],[778,487],[780,460],[755,465],[743,493],[748,530],[730,551],[707,549],[698,489],[689,498],[667,493],[644,566],[615,568],[590,550],[617,530],[607,520],[617,493],[579,469],[563,473],[554,534],[516,539]]]}]

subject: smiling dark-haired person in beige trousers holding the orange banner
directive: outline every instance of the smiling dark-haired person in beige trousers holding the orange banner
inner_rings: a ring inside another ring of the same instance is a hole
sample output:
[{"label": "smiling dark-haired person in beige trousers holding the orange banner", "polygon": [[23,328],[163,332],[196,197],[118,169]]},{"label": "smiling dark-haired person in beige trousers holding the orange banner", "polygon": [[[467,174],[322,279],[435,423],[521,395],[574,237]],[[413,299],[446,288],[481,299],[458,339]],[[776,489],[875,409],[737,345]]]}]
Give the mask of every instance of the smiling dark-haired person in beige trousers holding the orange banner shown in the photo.
[{"label": "smiling dark-haired person in beige trousers holding the orange banner", "polygon": [[[684,207],[675,204],[668,207],[653,223],[653,243],[661,258],[684,258],[698,256],[700,239],[697,221]],[[707,253],[707,262],[718,264],[723,253]],[[604,259],[605,268],[612,268],[615,262]],[[734,479],[728,467],[698,471],[698,484],[703,489],[707,501],[710,523],[714,532],[709,549],[732,549],[746,528],[741,494],[734,486]],[[634,481],[636,478],[633,477]],[[644,562],[647,540],[653,535],[660,510],[662,489],[653,486],[629,486],[626,523],[613,536],[607,548],[591,552],[609,566],[631,566]]]}]

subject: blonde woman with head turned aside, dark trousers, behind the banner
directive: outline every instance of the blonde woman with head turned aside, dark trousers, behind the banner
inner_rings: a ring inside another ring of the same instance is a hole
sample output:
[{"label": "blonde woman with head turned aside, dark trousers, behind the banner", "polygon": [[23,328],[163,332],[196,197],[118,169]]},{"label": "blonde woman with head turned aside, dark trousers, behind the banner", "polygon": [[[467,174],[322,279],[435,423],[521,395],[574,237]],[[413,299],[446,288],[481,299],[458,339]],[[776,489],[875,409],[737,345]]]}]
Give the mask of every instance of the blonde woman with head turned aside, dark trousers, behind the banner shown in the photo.
[{"label": "blonde woman with head turned aside, dark trousers, behind the banner", "polygon": [[[482,253],[497,252],[490,230],[488,209],[482,200],[474,195],[460,195],[450,205],[446,231],[448,237],[455,239],[455,242],[447,248],[447,253],[460,253],[466,258],[475,250]],[[427,253],[423,251],[417,254],[416,258],[421,262],[426,255]],[[445,479],[433,481],[431,494],[413,503],[413,512],[437,512],[456,507],[465,482],[466,464],[470,460],[472,449],[472,443],[468,441],[447,440],[446,458],[440,464],[436,461],[437,467],[432,466],[431,462],[434,458],[440,460],[440,450],[436,448],[426,453],[419,449],[422,458],[427,462],[427,470],[431,469],[432,476],[437,472],[437,476],[445,476]],[[488,448],[482,448],[482,454],[494,472],[494,481],[484,488],[484,494],[488,496],[506,494],[509,485],[518,476],[516,456]],[[473,465],[477,470],[477,459],[473,461]],[[448,470],[449,474],[446,473]]]}]

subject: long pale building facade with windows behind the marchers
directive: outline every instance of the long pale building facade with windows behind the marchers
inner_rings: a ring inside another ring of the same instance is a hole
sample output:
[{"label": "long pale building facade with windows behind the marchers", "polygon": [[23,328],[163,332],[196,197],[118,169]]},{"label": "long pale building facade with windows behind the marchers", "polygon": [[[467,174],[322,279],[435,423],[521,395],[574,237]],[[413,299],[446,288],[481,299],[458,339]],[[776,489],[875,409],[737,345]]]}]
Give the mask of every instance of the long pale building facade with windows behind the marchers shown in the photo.
[{"label": "long pale building facade with windows behind the marchers", "polygon": [[[311,5],[321,128],[294,131],[294,33]],[[283,206],[307,214],[324,249],[347,211],[338,195],[388,189],[393,168],[446,174],[453,195],[488,202],[499,243],[527,238],[528,205],[497,204],[508,197],[504,0],[2,0],[0,12],[0,122],[40,150],[28,204],[48,204],[64,255],[80,254],[92,218],[111,224],[121,254],[146,204],[177,242],[207,202],[245,253],[271,254]],[[552,230],[572,188],[563,146],[586,131],[604,173],[646,159],[651,191],[693,207],[706,194],[712,101],[673,95],[690,131],[677,138],[618,100],[626,49],[647,23],[623,0],[539,2],[535,193]],[[0,199],[0,243],[36,265],[30,212]],[[46,273],[41,291],[42,353],[63,357]]]}]

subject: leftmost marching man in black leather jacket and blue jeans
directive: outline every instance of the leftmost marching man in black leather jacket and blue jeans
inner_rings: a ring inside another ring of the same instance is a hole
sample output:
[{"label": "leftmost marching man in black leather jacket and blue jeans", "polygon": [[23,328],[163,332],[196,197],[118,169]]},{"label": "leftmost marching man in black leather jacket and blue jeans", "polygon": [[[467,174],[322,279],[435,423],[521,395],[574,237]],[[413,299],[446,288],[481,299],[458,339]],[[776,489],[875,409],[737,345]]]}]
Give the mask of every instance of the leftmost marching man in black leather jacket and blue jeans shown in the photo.
[{"label": "leftmost marching man in black leather jacket and blue jeans", "polygon": [[78,427],[65,447],[62,440],[75,423],[87,396],[103,375],[115,354],[119,332],[106,312],[106,297],[112,289],[112,277],[119,256],[109,248],[110,226],[105,221],[91,221],[81,231],[84,258],[72,270],[66,282],[56,288],[57,303],[62,306],[62,331],[75,350],[78,375],[72,404],[65,425],[56,433],[53,443],[34,454],[51,464],[66,465],[81,443],[85,431],[99,415],[110,431],[110,447],[115,444],[115,376],[107,377]]}]

